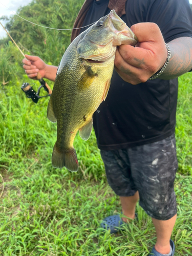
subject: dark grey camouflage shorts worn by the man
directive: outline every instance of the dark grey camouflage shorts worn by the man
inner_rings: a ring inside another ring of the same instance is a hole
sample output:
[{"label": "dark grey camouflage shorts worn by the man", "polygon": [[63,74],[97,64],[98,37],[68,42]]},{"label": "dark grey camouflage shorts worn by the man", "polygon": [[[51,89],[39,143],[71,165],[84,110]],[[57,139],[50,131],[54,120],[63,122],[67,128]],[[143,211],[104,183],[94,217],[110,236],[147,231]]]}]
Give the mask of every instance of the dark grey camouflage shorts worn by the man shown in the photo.
[{"label": "dark grey camouflage shorts worn by the man", "polygon": [[118,196],[139,191],[140,205],[158,220],[177,213],[174,180],[178,168],[175,135],[123,150],[101,150],[109,185]]}]

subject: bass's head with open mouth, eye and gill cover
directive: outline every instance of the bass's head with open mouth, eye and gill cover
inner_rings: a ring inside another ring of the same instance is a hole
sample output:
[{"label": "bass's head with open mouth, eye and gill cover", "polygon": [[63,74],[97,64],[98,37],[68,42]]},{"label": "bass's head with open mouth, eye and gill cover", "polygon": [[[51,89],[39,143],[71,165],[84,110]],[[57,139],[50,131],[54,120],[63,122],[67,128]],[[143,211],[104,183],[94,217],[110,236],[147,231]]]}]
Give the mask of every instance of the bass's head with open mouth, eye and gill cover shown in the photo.
[{"label": "bass's head with open mouth, eye and gill cover", "polygon": [[135,46],[137,41],[131,29],[112,10],[84,31],[77,44],[77,52],[83,59],[105,61],[115,55],[117,46]]}]

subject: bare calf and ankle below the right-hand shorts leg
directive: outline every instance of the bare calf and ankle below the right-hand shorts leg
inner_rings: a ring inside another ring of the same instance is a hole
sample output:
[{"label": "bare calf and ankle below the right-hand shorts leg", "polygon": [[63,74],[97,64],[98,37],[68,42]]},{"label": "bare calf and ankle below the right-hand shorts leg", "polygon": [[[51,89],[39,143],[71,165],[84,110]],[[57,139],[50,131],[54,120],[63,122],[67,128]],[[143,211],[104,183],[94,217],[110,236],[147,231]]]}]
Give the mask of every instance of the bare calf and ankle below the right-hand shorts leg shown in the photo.
[{"label": "bare calf and ankle below the right-hand shorts leg", "polygon": [[169,220],[161,221],[152,218],[157,232],[156,251],[162,254],[168,254],[170,251],[170,236],[176,222],[177,214]]}]

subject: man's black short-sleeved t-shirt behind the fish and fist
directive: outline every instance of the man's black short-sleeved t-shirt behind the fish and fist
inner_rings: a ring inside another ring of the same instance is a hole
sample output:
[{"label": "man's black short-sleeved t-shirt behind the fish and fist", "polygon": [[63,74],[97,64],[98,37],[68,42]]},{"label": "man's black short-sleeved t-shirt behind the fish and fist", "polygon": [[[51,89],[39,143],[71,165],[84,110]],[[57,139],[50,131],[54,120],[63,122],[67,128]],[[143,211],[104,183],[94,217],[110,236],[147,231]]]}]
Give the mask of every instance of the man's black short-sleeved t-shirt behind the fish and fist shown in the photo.
[{"label": "man's black short-sleeved t-shirt behind the fish and fist", "polygon": [[[109,0],[94,1],[83,26],[108,14],[108,3]],[[156,23],[167,43],[178,37],[192,37],[188,0],[127,0],[125,10],[121,18],[127,26]],[[93,115],[98,147],[117,150],[159,141],[173,134],[177,91],[177,78],[148,80],[134,86],[114,70],[108,96]]]}]

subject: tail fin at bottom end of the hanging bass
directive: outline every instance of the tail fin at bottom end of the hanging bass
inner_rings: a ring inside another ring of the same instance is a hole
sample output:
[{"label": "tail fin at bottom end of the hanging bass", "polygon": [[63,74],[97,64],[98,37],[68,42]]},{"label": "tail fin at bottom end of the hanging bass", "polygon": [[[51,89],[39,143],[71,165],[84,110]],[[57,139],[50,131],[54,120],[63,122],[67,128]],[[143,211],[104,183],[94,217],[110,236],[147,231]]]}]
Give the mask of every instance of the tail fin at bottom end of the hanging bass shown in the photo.
[{"label": "tail fin at bottom end of the hanging bass", "polygon": [[68,170],[71,170],[71,172],[76,172],[79,164],[75,148],[69,148],[68,151],[60,151],[55,143],[52,154],[52,165],[55,168],[65,166]]}]

